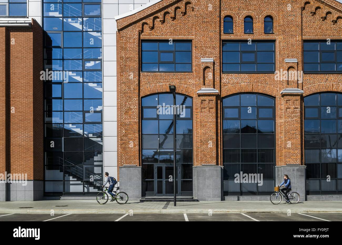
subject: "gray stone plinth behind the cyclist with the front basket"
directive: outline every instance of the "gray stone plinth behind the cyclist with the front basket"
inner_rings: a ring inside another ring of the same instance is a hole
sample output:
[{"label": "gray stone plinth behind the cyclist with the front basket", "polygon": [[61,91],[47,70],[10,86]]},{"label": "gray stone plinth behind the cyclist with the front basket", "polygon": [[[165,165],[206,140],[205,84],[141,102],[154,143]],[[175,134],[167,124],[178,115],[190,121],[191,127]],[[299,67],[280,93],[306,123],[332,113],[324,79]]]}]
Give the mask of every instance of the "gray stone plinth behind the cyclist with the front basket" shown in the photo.
[{"label": "gray stone plinth behind the cyclist with the front basket", "polygon": [[279,185],[284,181],[284,174],[287,174],[291,180],[292,192],[298,192],[300,200],[305,201],[306,166],[290,164],[285,166],[276,166],[276,185]]}]

